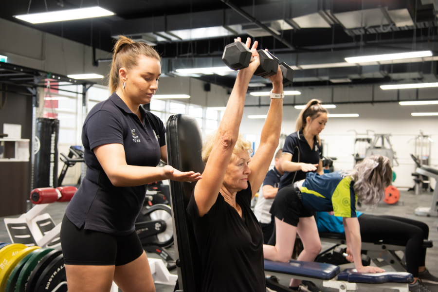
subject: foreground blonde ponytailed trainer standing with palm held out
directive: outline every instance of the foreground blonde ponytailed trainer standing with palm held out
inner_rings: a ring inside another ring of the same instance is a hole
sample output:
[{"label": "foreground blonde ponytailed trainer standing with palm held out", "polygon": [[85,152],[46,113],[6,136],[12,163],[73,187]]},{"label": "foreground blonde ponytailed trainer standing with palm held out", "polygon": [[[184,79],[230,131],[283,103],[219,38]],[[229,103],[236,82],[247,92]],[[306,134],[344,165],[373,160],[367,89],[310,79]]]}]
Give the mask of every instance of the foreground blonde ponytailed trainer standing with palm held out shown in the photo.
[{"label": "foreground blonde ponytailed trainer standing with palm held out", "polygon": [[119,36],[109,74],[111,95],[95,105],[82,128],[87,174],[61,227],[69,292],[154,292],[149,263],[134,222],[147,183],[194,182],[167,162],[163,122],[141,105],[158,89],[161,58],[149,45]]}]

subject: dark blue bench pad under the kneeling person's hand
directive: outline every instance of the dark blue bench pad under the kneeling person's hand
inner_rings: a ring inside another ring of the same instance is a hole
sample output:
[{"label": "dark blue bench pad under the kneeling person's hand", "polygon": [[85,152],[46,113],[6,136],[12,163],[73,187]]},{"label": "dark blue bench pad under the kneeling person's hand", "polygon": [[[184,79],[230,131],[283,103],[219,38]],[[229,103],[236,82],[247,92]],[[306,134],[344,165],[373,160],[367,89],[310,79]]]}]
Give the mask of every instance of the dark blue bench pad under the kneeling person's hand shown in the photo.
[{"label": "dark blue bench pad under the kneeling person's hand", "polygon": [[356,269],[346,269],[338,274],[338,281],[349,283],[412,283],[414,277],[410,273],[391,272],[391,273],[358,273]]}]

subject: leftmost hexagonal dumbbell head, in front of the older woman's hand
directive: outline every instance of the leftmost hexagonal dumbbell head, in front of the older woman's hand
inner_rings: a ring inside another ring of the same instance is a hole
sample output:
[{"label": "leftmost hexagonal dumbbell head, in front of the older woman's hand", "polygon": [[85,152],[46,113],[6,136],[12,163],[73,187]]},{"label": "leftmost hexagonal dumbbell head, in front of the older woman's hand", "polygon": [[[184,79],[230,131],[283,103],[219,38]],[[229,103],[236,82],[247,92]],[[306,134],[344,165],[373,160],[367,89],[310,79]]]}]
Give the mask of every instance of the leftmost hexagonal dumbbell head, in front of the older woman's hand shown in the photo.
[{"label": "leftmost hexagonal dumbbell head, in front of the older woman's hand", "polygon": [[248,68],[251,61],[251,53],[248,47],[240,42],[234,42],[225,46],[222,55],[222,61],[232,70]]}]

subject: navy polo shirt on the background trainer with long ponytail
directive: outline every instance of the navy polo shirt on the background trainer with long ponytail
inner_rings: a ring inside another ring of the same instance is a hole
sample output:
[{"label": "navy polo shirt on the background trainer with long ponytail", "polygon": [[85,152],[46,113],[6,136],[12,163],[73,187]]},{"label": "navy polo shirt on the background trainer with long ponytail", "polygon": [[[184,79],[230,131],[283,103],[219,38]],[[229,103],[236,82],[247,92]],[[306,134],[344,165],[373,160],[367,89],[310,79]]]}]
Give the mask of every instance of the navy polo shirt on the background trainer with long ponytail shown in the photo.
[{"label": "navy polo shirt on the background trainer with long ponytail", "polygon": [[[306,138],[304,138],[303,130],[301,129],[300,131],[294,132],[286,137],[283,146],[283,154],[285,153],[292,155],[292,162],[319,164],[319,161],[322,159],[323,147],[322,144],[321,146],[318,145],[318,141],[316,140],[315,136],[313,137],[313,148],[310,148],[309,143],[307,143]],[[278,190],[294,182],[306,179],[306,174],[307,172],[303,172],[301,170],[295,172],[285,171],[280,180]],[[293,179],[294,176],[295,179]]]}]

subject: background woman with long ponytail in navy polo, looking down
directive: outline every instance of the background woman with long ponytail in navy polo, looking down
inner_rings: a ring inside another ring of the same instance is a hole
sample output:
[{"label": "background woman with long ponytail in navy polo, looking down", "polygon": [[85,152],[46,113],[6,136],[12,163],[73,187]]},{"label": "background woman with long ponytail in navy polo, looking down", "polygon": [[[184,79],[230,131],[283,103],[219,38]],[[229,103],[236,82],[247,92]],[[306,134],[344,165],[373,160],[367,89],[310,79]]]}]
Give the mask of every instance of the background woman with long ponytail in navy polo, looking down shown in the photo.
[{"label": "background woman with long ponytail in navy polo, looking down", "polygon": [[278,190],[304,180],[306,173],[323,174],[323,146],[319,133],[327,123],[327,110],[317,99],[310,100],[296,119],[295,132],[286,137],[283,146],[284,175]]}]

